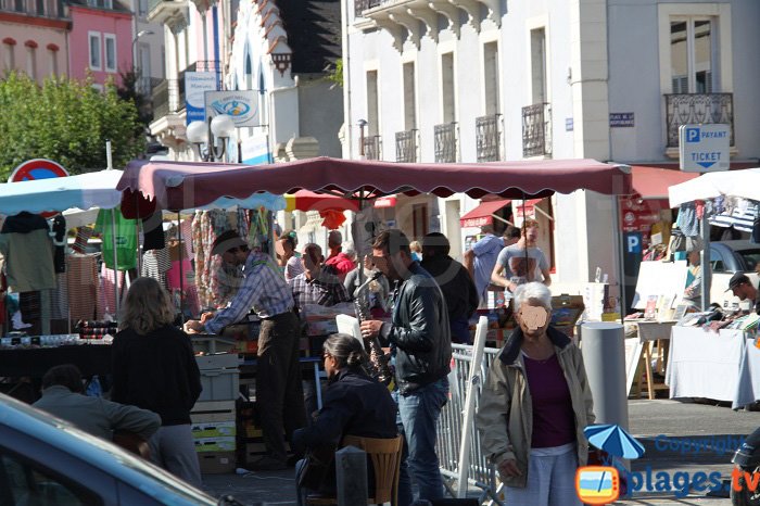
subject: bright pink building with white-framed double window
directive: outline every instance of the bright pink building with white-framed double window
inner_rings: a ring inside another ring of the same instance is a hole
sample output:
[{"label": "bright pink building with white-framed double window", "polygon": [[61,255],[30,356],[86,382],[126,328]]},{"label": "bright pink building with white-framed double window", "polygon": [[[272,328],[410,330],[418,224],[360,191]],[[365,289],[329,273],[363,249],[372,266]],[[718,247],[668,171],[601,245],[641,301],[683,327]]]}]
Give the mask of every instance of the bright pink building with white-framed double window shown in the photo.
[{"label": "bright pink building with white-framed double window", "polygon": [[68,36],[68,72],[84,79],[87,71],[94,83],[113,78],[132,67],[132,13],[118,0],[69,0],[72,31]]}]

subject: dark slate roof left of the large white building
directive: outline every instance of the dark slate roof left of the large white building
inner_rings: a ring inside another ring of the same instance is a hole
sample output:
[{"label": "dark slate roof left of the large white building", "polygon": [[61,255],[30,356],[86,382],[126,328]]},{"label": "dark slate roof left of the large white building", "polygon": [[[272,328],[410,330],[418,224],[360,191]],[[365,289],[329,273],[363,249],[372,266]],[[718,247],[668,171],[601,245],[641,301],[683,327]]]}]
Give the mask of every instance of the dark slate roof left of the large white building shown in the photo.
[{"label": "dark slate roof left of the large white building", "polygon": [[321,74],[341,58],[340,0],[276,0],[293,74]]}]

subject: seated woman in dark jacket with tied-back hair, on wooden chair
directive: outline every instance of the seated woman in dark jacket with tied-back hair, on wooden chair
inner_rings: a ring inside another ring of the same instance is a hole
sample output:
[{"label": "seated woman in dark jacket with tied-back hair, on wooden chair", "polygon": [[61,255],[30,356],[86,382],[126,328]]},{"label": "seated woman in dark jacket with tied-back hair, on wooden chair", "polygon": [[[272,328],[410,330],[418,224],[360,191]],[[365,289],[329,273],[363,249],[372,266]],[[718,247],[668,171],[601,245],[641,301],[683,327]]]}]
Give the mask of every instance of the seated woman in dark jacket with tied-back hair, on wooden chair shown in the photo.
[{"label": "seated woman in dark jacket with tied-back hair, on wooden chair", "polygon": [[[395,438],[396,404],[385,385],[365,372],[364,365],[368,357],[363,343],[352,336],[335,333],[325,341],[324,351],[329,381],[325,403],[311,427],[293,433],[295,452],[308,451],[317,455],[325,453],[327,446],[329,452],[334,453],[345,435]],[[296,476],[304,471],[305,465],[302,463],[295,467]],[[372,478],[369,473],[370,493]],[[299,481],[296,479],[296,486]],[[334,493],[334,461],[325,470],[318,489],[324,494]],[[299,490],[299,504],[303,504],[302,493]]]}]

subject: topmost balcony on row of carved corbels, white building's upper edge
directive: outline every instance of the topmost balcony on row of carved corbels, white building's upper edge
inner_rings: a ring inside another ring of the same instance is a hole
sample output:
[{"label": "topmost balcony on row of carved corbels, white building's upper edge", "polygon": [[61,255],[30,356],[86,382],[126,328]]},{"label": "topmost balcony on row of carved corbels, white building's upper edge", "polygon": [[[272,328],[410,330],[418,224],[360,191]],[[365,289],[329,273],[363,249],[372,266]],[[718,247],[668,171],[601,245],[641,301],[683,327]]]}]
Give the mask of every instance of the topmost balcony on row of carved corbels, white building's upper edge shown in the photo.
[{"label": "topmost balcony on row of carved corbels, white building's upper edge", "polygon": [[354,0],[355,26],[362,30],[384,29],[393,37],[393,46],[401,51],[406,39],[419,49],[420,38],[430,37],[438,42],[439,16],[445,17],[456,37],[464,18],[480,31],[485,18],[496,26],[502,24],[501,0]]}]

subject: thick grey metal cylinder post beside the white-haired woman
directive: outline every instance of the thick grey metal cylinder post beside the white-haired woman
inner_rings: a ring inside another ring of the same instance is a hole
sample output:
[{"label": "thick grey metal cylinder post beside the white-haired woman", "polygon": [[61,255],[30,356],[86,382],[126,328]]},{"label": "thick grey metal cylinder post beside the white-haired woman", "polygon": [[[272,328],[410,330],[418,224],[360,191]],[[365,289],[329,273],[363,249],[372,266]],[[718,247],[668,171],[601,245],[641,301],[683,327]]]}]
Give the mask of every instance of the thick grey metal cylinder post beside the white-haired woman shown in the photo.
[{"label": "thick grey metal cylinder post beside the white-haired woman", "polygon": [[628,430],[625,341],[623,326],[590,321],[582,325],[583,363],[594,397],[597,423],[617,423]]}]

